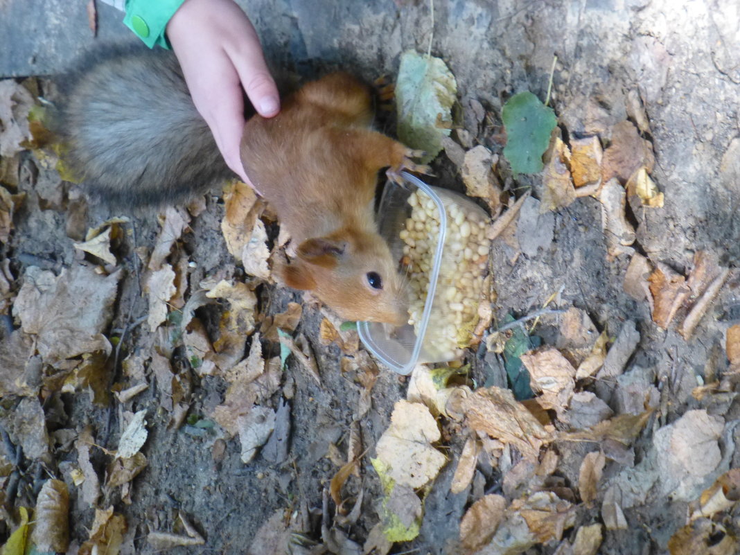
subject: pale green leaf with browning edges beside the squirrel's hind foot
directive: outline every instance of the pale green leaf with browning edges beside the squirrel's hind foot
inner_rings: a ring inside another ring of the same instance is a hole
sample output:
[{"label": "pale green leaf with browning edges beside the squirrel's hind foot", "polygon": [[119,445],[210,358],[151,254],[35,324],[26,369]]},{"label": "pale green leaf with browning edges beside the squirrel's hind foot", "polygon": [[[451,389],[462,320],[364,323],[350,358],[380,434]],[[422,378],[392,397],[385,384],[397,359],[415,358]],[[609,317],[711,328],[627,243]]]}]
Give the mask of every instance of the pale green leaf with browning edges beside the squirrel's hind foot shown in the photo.
[{"label": "pale green leaf with browning edges beside the squirrel's hind foot", "polygon": [[428,163],[442,150],[442,138],[450,129],[438,122],[452,121],[452,105],[457,98],[457,81],[440,58],[406,50],[396,81],[398,138],[407,147],[422,149]]}]

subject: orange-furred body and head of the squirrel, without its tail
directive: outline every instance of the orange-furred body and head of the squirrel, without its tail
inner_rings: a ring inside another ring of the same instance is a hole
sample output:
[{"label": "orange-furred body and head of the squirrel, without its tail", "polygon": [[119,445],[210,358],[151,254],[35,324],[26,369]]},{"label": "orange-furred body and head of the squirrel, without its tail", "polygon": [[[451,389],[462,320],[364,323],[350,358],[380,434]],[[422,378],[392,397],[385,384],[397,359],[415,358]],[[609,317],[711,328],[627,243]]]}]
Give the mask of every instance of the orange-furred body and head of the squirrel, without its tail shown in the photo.
[{"label": "orange-furred body and head of the squirrel, without its tail", "polygon": [[[306,84],[275,118],[246,123],[241,158],[249,179],[275,207],[297,244],[297,258],[278,273],[309,289],[348,320],[400,324],[406,307],[401,277],[377,233],[377,172],[416,167],[414,152],[369,128],[369,90],[346,73]],[[383,289],[373,289],[377,272]]]}]

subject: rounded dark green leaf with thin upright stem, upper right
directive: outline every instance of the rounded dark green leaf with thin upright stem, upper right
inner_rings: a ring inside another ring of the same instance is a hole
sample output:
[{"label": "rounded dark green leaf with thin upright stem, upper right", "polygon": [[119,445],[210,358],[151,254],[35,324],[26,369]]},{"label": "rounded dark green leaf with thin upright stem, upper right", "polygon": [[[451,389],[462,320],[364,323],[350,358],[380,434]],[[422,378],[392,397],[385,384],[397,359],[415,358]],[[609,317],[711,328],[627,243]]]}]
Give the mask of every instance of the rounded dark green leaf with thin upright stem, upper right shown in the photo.
[{"label": "rounded dark green leaf with thin upright stem, upper right", "polygon": [[557,123],[555,112],[531,92],[519,92],[504,104],[506,129],[504,156],[514,173],[536,173],[545,165],[542,155],[550,144]]}]

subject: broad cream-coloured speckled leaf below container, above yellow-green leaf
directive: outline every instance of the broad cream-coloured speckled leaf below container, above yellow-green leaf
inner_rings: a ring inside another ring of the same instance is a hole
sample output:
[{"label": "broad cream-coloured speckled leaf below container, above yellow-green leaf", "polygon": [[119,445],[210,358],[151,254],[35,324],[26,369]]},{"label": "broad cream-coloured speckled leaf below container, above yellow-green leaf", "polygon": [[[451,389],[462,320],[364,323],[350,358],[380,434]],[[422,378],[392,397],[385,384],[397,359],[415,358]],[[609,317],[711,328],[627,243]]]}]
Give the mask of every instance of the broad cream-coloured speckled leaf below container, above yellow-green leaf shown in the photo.
[{"label": "broad cream-coloured speckled leaf below container, above yellow-green leaf", "polygon": [[440,428],[428,408],[398,401],[391,414],[391,425],[375,446],[377,459],[386,465],[388,477],[397,484],[420,488],[434,480],[447,462],[431,445],[440,437]]}]

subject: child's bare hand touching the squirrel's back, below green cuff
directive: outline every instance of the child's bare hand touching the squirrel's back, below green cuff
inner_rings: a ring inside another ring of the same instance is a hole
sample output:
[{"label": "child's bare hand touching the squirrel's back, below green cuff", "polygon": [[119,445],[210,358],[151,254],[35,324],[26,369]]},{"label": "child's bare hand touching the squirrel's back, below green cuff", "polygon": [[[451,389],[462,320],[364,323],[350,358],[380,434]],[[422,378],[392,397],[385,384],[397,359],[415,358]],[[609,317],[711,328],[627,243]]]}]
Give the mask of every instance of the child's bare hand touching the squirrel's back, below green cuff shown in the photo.
[{"label": "child's bare hand touching the squirrel's back, below green cuff", "polygon": [[269,118],[280,110],[255,28],[232,0],[186,0],[169,20],[166,33],[223,159],[249,183],[239,155],[242,87],[260,115]]}]

